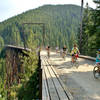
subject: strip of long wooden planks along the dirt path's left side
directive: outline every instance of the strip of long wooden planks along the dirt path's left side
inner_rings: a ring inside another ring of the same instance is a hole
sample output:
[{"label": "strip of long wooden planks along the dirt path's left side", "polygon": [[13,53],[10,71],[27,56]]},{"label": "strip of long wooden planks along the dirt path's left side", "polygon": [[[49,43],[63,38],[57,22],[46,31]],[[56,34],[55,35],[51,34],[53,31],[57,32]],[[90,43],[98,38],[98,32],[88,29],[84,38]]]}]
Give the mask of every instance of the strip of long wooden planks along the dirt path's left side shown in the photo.
[{"label": "strip of long wooden planks along the dirt path's left side", "polygon": [[42,58],[43,69],[43,100],[73,100],[71,94],[65,89],[53,66],[44,56]]}]

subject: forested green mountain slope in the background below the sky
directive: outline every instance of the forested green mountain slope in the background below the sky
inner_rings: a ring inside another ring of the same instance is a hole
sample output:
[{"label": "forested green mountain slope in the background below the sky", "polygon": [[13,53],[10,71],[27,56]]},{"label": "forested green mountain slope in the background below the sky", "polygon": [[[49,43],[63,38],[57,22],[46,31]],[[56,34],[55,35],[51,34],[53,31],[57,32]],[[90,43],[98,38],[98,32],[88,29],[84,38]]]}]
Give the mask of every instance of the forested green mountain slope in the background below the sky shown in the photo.
[{"label": "forested green mountain slope in the background below the sky", "polygon": [[[3,38],[5,44],[23,45],[22,24],[24,22],[45,23],[45,45],[61,47],[66,44],[70,48],[76,41],[78,33],[80,7],[76,5],[45,5],[29,10],[0,23],[0,39]],[[28,34],[29,27],[31,26],[24,26],[27,31],[25,34]],[[41,44],[43,41],[41,25],[32,25],[31,31],[37,35],[37,43]]]}]

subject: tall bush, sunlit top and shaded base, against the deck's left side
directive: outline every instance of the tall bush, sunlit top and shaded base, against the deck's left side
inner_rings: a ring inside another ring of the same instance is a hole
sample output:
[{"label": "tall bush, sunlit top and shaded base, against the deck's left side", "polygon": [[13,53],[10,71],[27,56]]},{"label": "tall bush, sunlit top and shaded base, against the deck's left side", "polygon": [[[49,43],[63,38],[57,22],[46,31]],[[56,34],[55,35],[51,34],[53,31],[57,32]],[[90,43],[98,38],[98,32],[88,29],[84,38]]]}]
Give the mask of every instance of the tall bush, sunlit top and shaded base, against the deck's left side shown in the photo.
[{"label": "tall bush, sunlit top and shaded base, against the deck's left side", "polygon": [[39,80],[37,56],[35,52],[28,53],[29,57],[22,59],[24,68],[24,81],[18,90],[18,100],[32,100],[39,98]]}]

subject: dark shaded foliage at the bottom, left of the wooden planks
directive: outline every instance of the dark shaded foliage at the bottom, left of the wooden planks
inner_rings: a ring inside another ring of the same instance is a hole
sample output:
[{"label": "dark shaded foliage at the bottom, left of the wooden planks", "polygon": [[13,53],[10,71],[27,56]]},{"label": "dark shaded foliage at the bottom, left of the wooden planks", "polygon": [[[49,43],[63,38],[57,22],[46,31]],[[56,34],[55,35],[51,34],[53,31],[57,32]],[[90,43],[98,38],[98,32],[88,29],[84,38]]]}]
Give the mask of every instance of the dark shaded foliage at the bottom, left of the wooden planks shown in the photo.
[{"label": "dark shaded foliage at the bottom, left of the wooden planks", "polygon": [[38,72],[34,71],[33,75],[24,82],[18,90],[18,100],[39,99],[39,80],[37,79]]}]

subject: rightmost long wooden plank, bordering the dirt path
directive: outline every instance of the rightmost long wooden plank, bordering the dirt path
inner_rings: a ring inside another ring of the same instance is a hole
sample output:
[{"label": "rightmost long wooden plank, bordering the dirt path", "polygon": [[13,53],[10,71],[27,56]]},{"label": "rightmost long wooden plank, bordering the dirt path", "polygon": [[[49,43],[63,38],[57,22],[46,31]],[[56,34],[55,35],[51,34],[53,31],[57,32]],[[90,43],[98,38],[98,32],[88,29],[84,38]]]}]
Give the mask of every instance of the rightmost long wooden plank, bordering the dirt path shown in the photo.
[{"label": "rightmost long wooden plank, bordering the dirt path", "polygon": [[52,76],[52,79],[53,79],[53,82],[54,82],[54,84],[56,86],[56,89],[57,89],[57,92],[58,92],[60,100],[68,100],[68,97],[65,94],[65,92],[64,92],[61,84],[59,83],[57,77],[55,76],[54,72],[52,71],[51,66],[48,66],[48,70],[49,70],[49,72],[50,72],[50,74]]}]

